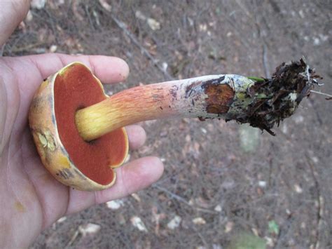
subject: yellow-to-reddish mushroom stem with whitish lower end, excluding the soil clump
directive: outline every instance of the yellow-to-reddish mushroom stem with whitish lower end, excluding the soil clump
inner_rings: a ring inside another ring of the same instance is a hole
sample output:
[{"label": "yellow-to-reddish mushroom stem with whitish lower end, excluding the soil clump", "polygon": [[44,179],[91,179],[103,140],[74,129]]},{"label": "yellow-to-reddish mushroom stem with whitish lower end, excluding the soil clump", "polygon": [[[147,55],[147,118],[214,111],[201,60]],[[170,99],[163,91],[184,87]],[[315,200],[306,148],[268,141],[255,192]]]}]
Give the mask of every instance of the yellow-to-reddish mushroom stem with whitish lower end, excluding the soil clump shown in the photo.
[{"label": "yellow-to-reddish mushroom stem with whitish lower end, excluding the soil clump", "polygon": [[140,121],[168,117],[222,117],[240,91],[254,81],[233,74],[201,76],[123,90],[76,113],[85,140]]}]

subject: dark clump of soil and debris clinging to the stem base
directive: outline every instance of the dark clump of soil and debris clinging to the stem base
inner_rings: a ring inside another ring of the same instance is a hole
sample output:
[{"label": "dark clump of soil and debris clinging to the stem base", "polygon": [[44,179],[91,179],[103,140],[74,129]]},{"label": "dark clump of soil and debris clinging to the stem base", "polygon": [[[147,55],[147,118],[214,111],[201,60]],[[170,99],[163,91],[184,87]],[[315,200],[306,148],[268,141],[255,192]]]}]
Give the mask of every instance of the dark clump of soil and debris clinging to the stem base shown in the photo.
[{"label": "dark clump of soil and debris clinging to the stem base", "polygon": [[271,79],[256,80],[247,90],[252,102],[246,115],[237,119],[240,123],[250,123],[251,126],[266,130],[275,135],[271,128],[280,121],[294,114],[304,97],[310,95],[317,79],[315,74],[301,58],[297,62],[282,63],[275,69]]}]

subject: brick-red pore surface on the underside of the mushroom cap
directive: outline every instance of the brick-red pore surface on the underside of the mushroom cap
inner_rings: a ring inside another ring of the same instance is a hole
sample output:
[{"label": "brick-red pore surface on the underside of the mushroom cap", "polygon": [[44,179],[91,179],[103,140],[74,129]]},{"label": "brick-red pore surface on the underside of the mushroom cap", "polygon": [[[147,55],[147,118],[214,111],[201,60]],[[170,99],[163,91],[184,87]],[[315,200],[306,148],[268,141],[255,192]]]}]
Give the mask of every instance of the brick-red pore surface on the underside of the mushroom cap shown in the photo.
[{"label": "brick-red pore surface on the underside of the mushroom cap", "polygon": [[97,140],[85,142],[78,134],[75,113],[105,98],[99,83],[83,65],[71,65],[55,79],[55,119],[60,140],[76,168],[104,185],[113,180],[111,166],[117,166],[126,156],[125,134],[120,128]]}]

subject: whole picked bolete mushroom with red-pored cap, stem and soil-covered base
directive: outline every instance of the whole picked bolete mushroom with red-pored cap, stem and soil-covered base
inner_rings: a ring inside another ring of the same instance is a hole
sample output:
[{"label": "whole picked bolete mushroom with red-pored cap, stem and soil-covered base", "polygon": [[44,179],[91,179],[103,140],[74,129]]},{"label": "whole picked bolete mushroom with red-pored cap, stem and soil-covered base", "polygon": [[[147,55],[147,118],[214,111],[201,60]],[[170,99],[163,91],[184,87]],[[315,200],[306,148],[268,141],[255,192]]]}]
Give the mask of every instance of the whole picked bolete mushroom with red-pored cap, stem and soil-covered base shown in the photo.
[{"label": "whole picked bolete mushroom with red-pored cap, stem and soil-covered base", "polygon": [[123,90],[108,97],[100,81],[74,62],[48,77],[34,96],[29,124],[44,166],[81,190],[111,187],[127,156],[123,127],[151,119],[235,120],[267,130],[291,116],[319,76],[304,58],[283,63],[271,79],[200,76]]}]

